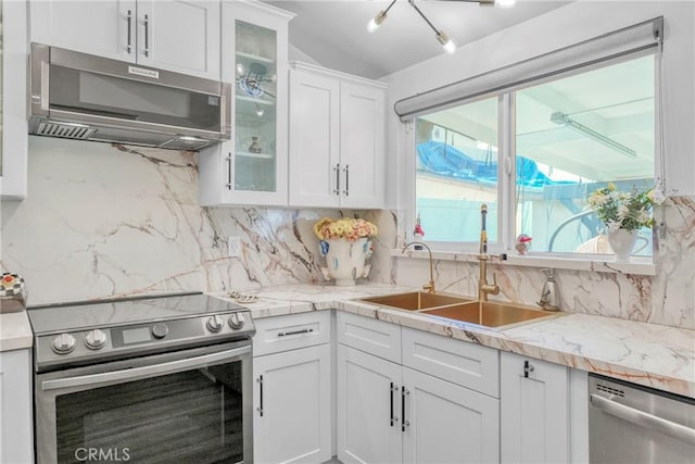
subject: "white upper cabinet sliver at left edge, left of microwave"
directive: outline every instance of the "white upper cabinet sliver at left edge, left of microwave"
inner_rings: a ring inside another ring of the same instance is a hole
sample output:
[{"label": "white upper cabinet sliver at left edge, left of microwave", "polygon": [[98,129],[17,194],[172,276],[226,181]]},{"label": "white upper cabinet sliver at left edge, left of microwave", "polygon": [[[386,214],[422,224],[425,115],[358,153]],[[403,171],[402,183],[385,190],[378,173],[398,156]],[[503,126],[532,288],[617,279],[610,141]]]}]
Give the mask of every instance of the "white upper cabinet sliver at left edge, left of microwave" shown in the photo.
[{"label": "white upper cabinet sliver at left edge, left of microwave", "polygon": [[22,199],[27,192],[26,5],[4,0],[0,36],[0,192]]}]

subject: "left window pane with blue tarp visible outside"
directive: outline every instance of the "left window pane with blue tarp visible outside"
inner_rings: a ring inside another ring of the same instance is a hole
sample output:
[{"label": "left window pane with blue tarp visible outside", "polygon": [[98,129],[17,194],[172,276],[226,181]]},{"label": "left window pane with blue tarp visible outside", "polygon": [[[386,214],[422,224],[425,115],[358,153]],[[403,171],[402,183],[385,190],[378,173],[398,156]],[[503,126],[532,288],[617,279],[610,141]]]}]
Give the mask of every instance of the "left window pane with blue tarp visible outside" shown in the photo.
[{"label": "left window pane with blue tarp visible outside", "polygon": [[488,204],[488,240],[497,241],[497,98],[416,121],[416,205],[428,241],[475,241]]}]

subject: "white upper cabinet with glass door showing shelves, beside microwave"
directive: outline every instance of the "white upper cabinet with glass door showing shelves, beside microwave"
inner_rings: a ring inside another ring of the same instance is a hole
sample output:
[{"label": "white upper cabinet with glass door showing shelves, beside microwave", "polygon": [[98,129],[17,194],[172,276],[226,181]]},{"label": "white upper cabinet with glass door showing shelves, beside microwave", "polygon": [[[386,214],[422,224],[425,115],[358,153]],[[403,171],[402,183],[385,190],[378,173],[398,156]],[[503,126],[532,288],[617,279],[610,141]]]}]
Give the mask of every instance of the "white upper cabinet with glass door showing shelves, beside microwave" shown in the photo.
[{"label": "white upper cabinet with glass door showing shelves, beside microwave", "polygon": [[201,204],[287,204],[291,18],[263,3],[223,2],[223,80],[235,89],[232,138],[201,152]]}]

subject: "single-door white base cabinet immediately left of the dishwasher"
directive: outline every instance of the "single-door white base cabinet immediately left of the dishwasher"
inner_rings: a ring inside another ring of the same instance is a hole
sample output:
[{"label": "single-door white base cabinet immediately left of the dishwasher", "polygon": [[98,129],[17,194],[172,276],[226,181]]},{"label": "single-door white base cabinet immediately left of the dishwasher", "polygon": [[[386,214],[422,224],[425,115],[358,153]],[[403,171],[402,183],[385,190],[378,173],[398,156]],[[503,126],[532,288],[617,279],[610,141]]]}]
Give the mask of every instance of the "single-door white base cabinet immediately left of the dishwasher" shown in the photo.
[{"label": "single-door white base cabinet immediately left of the dishwasher", "polygon": [[501,358],[502,462],[585,462],[586,373],[508,352]]}]

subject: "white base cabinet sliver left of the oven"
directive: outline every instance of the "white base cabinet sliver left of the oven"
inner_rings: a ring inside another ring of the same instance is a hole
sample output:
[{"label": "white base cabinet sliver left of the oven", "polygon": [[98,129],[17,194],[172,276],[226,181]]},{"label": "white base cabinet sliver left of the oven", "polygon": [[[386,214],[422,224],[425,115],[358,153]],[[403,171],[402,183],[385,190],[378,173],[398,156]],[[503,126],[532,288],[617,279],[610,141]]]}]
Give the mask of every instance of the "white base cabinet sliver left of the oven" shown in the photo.
[{"label": "white base cabinet sliver left of the oven", "polygon": [[0,463],[34,462],[31,350],[0,352]]}]

